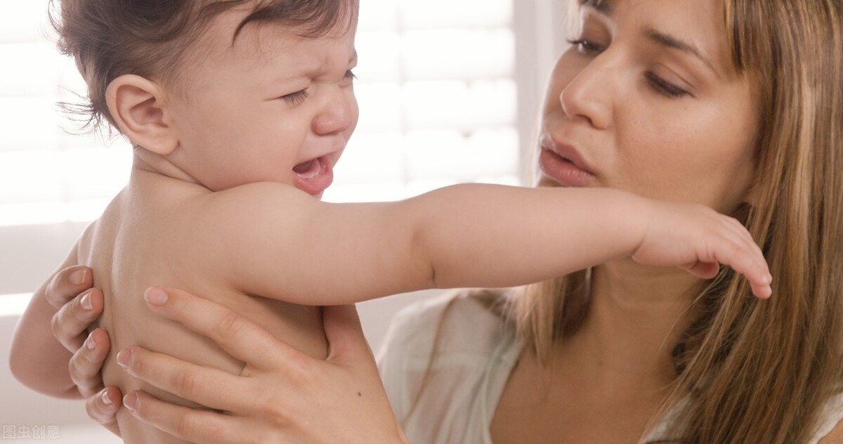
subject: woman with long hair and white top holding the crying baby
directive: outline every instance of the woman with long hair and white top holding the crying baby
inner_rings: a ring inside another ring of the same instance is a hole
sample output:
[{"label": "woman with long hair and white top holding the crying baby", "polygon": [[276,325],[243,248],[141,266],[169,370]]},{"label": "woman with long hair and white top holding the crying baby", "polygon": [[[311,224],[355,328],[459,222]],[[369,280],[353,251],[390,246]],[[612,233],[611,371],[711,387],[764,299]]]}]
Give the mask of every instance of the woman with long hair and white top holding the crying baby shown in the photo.
[{"label": "woman with long hair and white top holding the crying baby", "polygon": [[[382,358],[401,426],[413,442],[843,442],[843,2],[580,3],[579,35],[545,101],[539,185],[617,187],[733,214],[765,251],[774,297],[749,297],[729,270],[700,281],[620,260],[413,308]],[[56,286],[54,297],[83,287]],[[346,309],[326,311],[326,364],[242,318],[221,334],[195,313],[230,314],[169,294],[153,309],[231,350],[252,343],[239,359],[267,370],[217,375],[139,350],[133,375],[233,412],[130,393],[142,419],[196,441],[367,441],[374,430],[400,440]],[[99,311],[89,297],[87,318],[72,320],[75,301],[57,315],[66,341]],[[94,334],[72,362],[84,394],[108,345]],[[287,364],[261,357],[275,354]],[[360,388],[367,404],[323,401],[328,385]],[[100,422],[118,404],[110,390],[110,408],[89,401]]]}]

